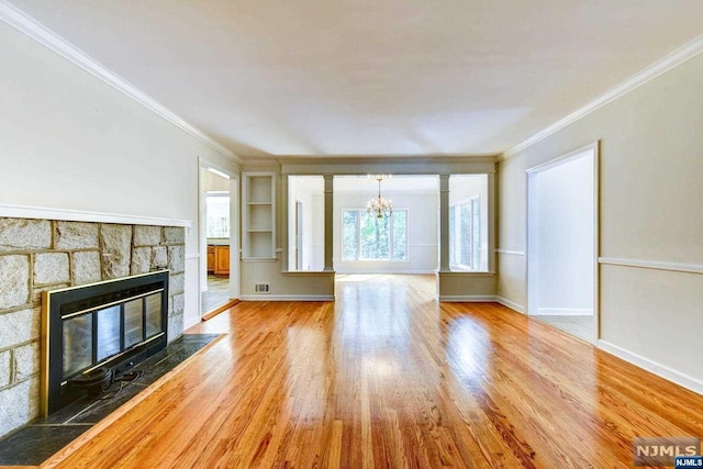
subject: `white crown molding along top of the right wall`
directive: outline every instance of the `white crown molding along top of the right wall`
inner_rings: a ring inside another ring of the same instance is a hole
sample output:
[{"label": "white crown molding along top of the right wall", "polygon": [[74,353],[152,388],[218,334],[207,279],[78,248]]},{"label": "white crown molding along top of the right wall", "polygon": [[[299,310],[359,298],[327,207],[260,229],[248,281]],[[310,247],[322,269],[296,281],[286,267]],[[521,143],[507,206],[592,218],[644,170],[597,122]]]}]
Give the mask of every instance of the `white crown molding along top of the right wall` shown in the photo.
[{"label": "white crown molding along top of the right wall", "polygon": [[658,76],[666,74],[667,71],[671,70],[674,67],[678,67],[679,65],[683,64],[684,62],[689,60],[690,58],[695,57],[696,55],[699,55],[700,53],[703,52],[703,35],[698,36],[695,40],[691,41],[690,43],[683,45],[682,47],[679,47],[678,49],[673,51],[671,54],[666,55],[665,57],[660,58],[659,60],[655,62],[654,64],[649,65],[647,68],[645,68],[644,70],[640,70],[639,72],[635,74],[634,76],[629,77],[627,80],[623,81],[622,83],[617,85],[615,88],[610,89],[609,91],[606,91],[605,93],[601,94],[600,97],[595,98],[593,101],[591,101],[590,103],[585,104],[584,107],[578,109],[577,111],[572,112],[571,114],[567,115],[566,118],[555,122],[554,124],[549,125],[548,127],[542,130],[540,132],[536,133],[535,135],[531,136],[529,138],[527,138],[526,141],[515,145],[514,147],[507,149],[506,152],[504,152],[503,154],[501,154],[499,156],[499,160],[505,160],[507,158],[510,158],[511,156],[515,155],[516,153],[527,148],[528,146],[539,142],[543,138],[546,138],[547,136],[556,133],[557,131],[560,131],[561,129],[566,127],[567,125],[578,121],[579,119],[584,118],[585,115],[590,114],[591,112],[604,107],[605,104],[627,94],[628,92],[639,88],[640,86],[645,85],[646,82],[657,78]]}]

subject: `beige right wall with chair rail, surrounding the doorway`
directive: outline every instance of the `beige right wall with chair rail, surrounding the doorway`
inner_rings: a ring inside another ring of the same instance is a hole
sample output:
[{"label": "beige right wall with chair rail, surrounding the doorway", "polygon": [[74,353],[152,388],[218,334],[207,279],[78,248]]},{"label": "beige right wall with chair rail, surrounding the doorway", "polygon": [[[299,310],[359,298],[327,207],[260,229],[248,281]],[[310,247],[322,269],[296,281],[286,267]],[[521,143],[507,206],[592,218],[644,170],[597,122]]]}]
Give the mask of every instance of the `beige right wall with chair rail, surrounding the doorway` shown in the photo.
[{"label": "beige right wall with chair rail, surrounding the doorway", "polygon": [[600,346],[703,392],[703,54],[499,166],[499,294],[524,306],[525,170],[600,141]]}]

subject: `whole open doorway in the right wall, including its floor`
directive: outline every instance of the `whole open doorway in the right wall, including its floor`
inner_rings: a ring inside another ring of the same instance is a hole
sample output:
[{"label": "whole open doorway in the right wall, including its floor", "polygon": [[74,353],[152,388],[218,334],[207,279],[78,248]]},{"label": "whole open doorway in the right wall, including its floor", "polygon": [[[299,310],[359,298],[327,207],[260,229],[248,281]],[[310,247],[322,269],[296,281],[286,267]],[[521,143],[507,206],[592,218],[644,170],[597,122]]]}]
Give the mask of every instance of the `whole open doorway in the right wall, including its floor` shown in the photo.
[{"label": "whole open doorway in the right wall, including its floor", "polygon": [[598,339],[598,147],[527,170],[527,313]]}]

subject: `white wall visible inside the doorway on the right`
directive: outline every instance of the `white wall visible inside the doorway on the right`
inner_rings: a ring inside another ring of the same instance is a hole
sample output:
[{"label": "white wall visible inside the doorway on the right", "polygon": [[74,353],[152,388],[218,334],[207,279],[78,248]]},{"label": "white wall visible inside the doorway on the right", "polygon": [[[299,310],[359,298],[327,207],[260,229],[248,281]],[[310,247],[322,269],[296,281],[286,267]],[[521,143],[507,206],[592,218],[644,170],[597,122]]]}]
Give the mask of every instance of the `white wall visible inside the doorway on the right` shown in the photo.
[{"label": "white wall visible inside the doorway on the right", "polygon": [[529,175],[529,314],[593,314],[593,156]]}]

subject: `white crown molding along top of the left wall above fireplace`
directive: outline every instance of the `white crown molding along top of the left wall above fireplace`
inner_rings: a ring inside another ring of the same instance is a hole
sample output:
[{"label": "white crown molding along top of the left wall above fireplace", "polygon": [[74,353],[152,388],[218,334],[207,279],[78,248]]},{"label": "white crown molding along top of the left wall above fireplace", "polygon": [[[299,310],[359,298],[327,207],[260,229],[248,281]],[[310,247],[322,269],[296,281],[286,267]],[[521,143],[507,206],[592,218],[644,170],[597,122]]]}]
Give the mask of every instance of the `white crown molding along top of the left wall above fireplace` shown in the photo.
[{"label": "white crown molding along top of the left wall above fireplace", "polygon": [[187,122],[174,111],[169,110],[124,78],[109,70],[98,60],[90,57],[88,54],[70,44],[53,31],[48,30],[32,16],[9,3],[7,0],[0,0],[0,20],[4,21],[21,33],[30,36],[37,43],[47,47],[49,51],[71,62],[74,65],[77,65],[88,71],[93,77],[110,85],[112,88],[133,99],[155,114],[164,118],[166,121],[181,129],[186,133],[198,138],[200,142],[204,143],[221,155],[226,156],[236,163],[242,163],[242,160],[232,150],[215,142],[210,135]]}]

